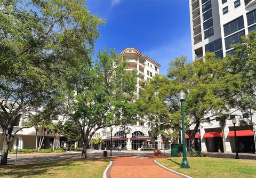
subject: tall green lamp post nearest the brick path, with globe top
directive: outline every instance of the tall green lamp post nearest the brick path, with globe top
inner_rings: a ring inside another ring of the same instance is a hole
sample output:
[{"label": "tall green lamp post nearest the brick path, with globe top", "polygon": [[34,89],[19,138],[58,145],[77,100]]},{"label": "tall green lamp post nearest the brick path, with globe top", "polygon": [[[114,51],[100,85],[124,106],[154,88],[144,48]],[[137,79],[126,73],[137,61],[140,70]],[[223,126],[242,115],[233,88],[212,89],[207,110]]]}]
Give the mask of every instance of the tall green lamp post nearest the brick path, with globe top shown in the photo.
[{"label": "tall green lamp post nearest the brick path, with globe top", "polygon": [[181,168],[189,168],[188,160],[187,160],[187,152],[186,152],[186,140],[185,140],[185,121],[184,121],[184,111],[183,111],[183,103],[186,100],[186,94],[182,90],[179,93],[179,100],[181,102],[181,120],[182,120],[182,144],[183,144],[183,158],[182,163],[180,165]]}]

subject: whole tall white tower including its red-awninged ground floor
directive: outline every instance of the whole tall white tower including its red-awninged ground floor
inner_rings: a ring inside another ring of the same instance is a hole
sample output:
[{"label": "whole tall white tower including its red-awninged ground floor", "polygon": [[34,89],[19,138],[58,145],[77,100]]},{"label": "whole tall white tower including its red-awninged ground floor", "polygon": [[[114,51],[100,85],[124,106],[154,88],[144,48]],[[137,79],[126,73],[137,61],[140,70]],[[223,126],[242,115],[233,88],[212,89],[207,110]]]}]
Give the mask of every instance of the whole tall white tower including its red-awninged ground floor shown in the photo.
[{"label": "whole tall white tower including its red-awninged ground floor", "polygon": [[[193,61],[203,61],[206,51],[214,52],[217,58],[234,54],[230,44],[242,43],[241,36],[256,30],[256,0],[189,0],[189,10]],[[256,113],[251,116],[235,109],[230,112],[233,112],[230,119],[236,118],[238,121],[239,152],[255,152],[252,128],[256,127]],[[193,129],[194,126],[191,126],[190,130]],[[202,151],[222,151],[223,136],[227,152],[235,151],[234,126],[231,120],[227,120],[224,135],[218,119],[211,124],[201,124],[199,131]],[[196,147],[197,145],[196,143]]]}]

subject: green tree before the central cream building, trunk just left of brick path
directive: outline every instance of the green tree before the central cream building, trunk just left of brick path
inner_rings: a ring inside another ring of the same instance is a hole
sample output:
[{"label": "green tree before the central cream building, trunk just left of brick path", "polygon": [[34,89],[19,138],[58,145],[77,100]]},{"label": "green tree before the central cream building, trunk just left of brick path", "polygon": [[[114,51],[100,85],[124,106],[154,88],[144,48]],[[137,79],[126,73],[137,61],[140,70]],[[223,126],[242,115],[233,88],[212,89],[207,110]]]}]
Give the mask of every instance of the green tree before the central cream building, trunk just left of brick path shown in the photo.
[{"label": "green tree before the central cream building, trunk just left of brick path", "polygon": [[[135,71],[127,73],[127,61],[115,50],[106,48],[98,53],[95,66],[81,59],[76,68],[70,68],[66,80],[69,120],[77,126],[82,140],[82,157],[92,136],[100,128],[121,125],[135,117],[130,104],[136,84]],[[128,94],[128,95],[125,95]]]}]

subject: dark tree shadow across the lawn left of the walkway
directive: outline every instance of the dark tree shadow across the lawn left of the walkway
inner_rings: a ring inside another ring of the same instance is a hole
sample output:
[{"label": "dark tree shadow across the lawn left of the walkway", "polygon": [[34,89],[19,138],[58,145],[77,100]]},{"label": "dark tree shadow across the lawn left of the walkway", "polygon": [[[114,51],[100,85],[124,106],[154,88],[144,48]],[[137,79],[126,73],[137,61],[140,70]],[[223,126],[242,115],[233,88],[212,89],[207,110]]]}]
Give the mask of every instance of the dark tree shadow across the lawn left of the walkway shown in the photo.
[{"label": "dark tree shadow across the lawn left of the walkway", "polygon": [[[22,177],[22,176],[38,176],[45,175],[47,177],[57,176],[59,170],[65,170],[69,166],[76,166],[77,161],[83,161],[83,166],[86,164],[92,164],[94,161],[108,162],[107,159],[77,159],[77,160],[66,160],[66,161],[49,161],[44,163],[34,163],[25,165],[9,165],[0,167],[0,176],[11,176],[11,177]],[[69,169],[71,171],[71,169]],[[54,173],[54,171],[57,171]]]}]

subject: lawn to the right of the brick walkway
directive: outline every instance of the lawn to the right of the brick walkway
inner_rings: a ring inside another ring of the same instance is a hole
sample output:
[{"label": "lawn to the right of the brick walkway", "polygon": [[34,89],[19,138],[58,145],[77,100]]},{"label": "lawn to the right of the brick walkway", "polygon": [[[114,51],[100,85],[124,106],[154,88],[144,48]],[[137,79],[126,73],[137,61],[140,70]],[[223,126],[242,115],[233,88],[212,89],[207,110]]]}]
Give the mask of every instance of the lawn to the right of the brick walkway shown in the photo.
[{"label": "lawn to the right of the brick walkway", "polygon": [[256,177],[255,160],[227,158],[188,158],[189,169],[181,169],[180,158],[158,159],[158,163],[191,177]]}]

